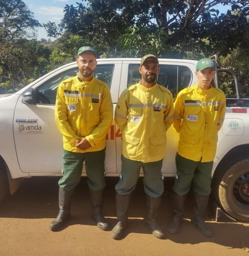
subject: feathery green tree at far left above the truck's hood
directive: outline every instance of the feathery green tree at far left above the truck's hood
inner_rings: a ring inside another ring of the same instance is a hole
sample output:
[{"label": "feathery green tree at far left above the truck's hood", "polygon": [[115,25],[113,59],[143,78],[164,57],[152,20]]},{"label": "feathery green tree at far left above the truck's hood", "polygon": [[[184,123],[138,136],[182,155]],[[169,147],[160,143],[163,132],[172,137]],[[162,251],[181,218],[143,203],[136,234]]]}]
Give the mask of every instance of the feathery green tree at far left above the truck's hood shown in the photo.
[{"label": "feathery green tree at far left above the truck's hood", "polygon": [[38,26],[21,0],[0,1],[0,86],[8,91],[16,91],[47,68],[49,48],[27,40]]}]

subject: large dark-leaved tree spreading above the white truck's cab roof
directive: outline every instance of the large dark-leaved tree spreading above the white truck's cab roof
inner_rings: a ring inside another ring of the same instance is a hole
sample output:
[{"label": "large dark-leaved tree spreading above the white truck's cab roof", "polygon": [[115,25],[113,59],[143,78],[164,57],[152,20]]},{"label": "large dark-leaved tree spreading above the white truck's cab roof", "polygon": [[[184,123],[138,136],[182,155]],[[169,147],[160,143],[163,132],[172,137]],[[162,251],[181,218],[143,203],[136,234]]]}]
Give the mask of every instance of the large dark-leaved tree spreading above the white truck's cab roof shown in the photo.
[{"label": "large dark-leaved tree spreading above the white truck's cab roof", "polygon": [[[89,0],[65,6],[59,26],[47,24],[50,36],[77,35],[110,56],[186,57],[187,51],[226,55],[248,28],[248,1]],[[217,5],[230,6],[220,13]],[[170,52],[169,49],[172,51]]]}]

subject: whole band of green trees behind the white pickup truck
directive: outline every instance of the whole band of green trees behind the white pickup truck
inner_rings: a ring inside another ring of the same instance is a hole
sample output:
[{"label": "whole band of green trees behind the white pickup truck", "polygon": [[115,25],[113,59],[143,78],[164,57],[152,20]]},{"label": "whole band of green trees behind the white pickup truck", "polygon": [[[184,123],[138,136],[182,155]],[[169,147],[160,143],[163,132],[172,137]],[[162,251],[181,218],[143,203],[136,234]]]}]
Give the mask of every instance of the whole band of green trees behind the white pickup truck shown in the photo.
[{"label": "whole band of green trees behind the white pickup truck", "polygon": [[[228,11],[220,13],[221,6]],[[248,15],[249,2],[237,0],[79,0],[65,5],[60,24],[43,24],[57,40],[38,42],[33,36],[40,24],[26,4],[1,0],[0,87],[16,91],[75,60],[83,45],[93,46],[99,57],[197,59],[216,53],[248,85]],[[242,93],[249,93],[248,86]]]}]

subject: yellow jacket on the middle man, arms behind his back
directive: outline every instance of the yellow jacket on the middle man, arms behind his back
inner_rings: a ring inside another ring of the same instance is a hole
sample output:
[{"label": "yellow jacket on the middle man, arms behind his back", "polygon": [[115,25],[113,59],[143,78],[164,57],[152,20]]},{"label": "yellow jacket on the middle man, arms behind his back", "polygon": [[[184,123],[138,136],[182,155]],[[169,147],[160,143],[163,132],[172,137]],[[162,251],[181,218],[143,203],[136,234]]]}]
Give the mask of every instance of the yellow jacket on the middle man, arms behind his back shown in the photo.
[{"label": "yellow jacket on the middle man, arms behind his back", "polygon": [[164,158],[166,130],[173,121],[173,99],[167,88],[137,83],[120,95],[115,122],[122,131],[124,157],[149,163]]}]

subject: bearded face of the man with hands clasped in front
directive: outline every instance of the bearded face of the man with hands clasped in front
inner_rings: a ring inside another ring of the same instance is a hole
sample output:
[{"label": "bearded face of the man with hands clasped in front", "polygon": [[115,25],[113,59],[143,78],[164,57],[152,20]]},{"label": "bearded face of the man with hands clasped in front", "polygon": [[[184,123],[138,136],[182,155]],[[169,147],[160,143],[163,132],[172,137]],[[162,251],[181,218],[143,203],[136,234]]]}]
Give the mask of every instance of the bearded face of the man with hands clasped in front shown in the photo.
[{"label": "bearded face of the man with hands clasped in front", "polygon": [[76,59],[79,72],[83,77],[91,77],[97,65],[96,58],[92,52],[84,52]]}]

